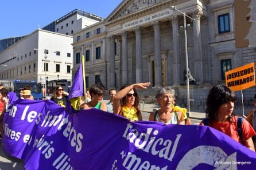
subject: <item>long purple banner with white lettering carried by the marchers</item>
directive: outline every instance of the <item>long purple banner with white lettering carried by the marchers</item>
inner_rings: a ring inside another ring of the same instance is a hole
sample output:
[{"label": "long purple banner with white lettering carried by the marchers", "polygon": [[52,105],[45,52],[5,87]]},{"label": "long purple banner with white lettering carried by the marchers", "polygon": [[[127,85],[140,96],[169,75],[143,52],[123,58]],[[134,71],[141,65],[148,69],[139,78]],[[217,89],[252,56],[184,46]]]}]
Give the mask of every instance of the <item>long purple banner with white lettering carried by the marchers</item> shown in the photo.
[{"label": "long purple banner with white lettering carried by the marchers", "polygon": [[66,114],[18,100],[5,114],[4,149],[26,169],[253,169],[256,153],[197,125],[130,122],[102,110]]}]

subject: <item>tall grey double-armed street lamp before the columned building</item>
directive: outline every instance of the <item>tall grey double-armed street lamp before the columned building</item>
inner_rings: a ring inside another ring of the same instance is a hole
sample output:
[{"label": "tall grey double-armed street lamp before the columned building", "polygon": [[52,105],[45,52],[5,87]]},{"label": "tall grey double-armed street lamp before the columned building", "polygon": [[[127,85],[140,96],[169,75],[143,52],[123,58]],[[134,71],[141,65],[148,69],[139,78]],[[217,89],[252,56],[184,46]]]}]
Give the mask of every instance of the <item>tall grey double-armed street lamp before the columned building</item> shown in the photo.
[{"label": "tall grey double-armed street lamp before the columned building", "polygon": [[188,42],[187,42],[187,23],[186,23],[186,17],[192,19],[193,21],[195,19],[189,17],[187,14],[181,12],[177,9],[176,6],[171,6],[169,9],[176,10],[179,13],[183,14],[183,20],[184,20],[184,38],[185,38],[185,54],[186,54],[186,71],[187,71],[187,105],[188,105],[188,114],[190,114],[190,106],[189,106],[189,78],[188,78]]}]

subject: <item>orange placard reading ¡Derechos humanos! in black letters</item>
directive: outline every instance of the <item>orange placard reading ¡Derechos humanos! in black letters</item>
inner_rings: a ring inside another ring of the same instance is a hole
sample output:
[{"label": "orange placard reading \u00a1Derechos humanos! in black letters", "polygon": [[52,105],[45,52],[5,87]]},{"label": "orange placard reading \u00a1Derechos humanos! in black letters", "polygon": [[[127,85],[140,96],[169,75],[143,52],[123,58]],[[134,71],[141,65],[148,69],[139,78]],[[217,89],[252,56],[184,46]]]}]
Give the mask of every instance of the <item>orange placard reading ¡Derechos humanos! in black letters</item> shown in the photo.
[{"label": "orange placard reading \u00a1Derechos humanos! in black letters", "polygon": [[254,62],[225,72],[226,86],[233,91],[255,86]]}]

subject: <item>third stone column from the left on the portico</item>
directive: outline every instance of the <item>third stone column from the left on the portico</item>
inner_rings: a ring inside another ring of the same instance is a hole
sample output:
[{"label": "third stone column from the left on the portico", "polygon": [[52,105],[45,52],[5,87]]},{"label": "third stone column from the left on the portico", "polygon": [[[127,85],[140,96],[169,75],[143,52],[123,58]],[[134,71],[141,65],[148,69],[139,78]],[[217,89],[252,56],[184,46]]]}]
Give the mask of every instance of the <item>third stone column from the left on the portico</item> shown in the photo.
[{"label": "third stone column from the left on the portico", "polygon": [[142,43],[141,28],[135,29],[136,35],[136,83],[142,82]]}]

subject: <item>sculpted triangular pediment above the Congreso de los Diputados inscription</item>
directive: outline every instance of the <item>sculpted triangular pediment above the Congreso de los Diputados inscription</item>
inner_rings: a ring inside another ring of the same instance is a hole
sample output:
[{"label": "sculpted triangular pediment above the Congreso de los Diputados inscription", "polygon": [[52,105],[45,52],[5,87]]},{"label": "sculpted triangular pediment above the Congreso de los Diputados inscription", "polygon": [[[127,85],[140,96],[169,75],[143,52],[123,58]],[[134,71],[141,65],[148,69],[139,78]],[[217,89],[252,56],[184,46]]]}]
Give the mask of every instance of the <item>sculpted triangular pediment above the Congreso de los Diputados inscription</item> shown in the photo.
[{"label": "sculpted triangular pediment above the Congreso de los Diputados inscription", "polygon": [[137,13],[143,9],[149,8],[150,6],[157,5],[158,3],[162,3],[170,0],[134,0],[134,1],[122,1],[115,10],[108,15],[105,22],[111,22],[115,19],[126,17],[127,15],[131,15],[133,13]]}]

